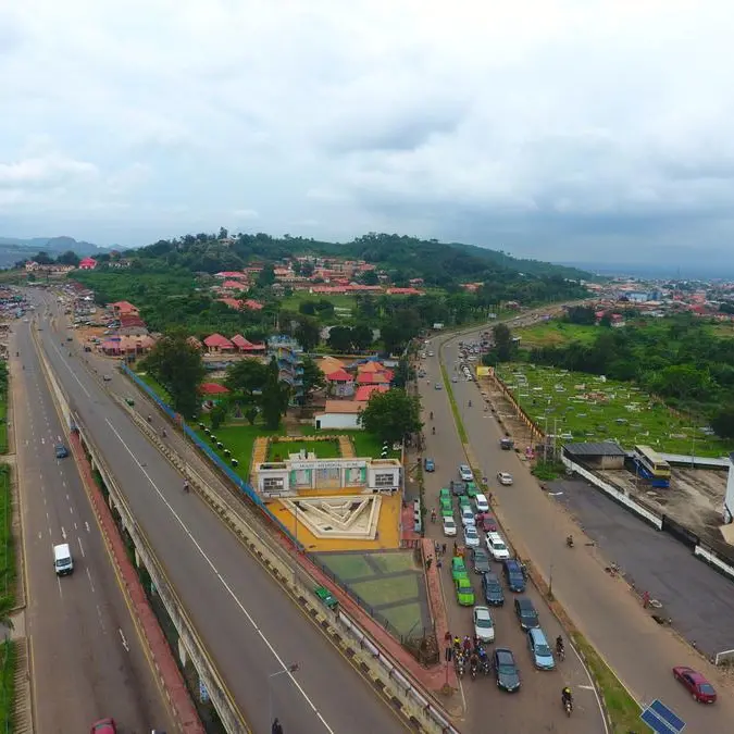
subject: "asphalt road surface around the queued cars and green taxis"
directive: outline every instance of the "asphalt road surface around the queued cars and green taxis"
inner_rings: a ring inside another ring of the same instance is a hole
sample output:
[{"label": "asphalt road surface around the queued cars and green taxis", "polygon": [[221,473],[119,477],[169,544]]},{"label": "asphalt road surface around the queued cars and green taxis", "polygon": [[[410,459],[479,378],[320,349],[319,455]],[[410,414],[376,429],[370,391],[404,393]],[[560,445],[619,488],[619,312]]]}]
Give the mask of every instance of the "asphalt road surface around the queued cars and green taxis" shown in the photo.
[{"label": "asphalt road surface around the queued cars and green taxis", "polygon": [[[438,490],[448,486],[450,480],[458,480],[459,464],[465,463],[465,457],[458,433],[453,424],[451,408],[444,389],[436,390],[435,384],[443,386],[443,378],[438,368],[437,357],[427,358],[423,362],[427,375],[421,381],[420,389],[423,398],[423,412],[426,426],[435,426],[436,435],[425,431],[426,449],[424,457],[435,460],[436,471],[426,473],[425,501],[428,511],[437,507]],[[449,369],[451,372],[451,368]],[[463,377],[462,377],[463,380]],[[453,385],[453,387],[458,387]],[[481,409],[480,409],[481,410]],[[434,420],[430,413],[433,411]],[[456,501],[455,501],[456,506]],[[456,513],[459,519],[458,511]],[[484,535],[481,533],[481,535]],[[452,538],[443,536],[440,522],[428,522],[426,536],[439,543],[447,544],[447,556],[441,569],[441,583],[448,612],[451,634],[463,637],[472,632],[472,610],[461,608],[457,604],[450,571],[450,555],[453,547]],[[461,531],[457,543],[462,544]],[[471,565],[468,562],[468,565]],[[501,576],[501,565],[493,563],[497,574]],[[480,577],[471,572],[474,594],[477,605],[484,605]],[[465,721],[468,731],[481,731],[483,726],[492,724],[493,731],[512,732],[513,734],[536,734],[538,732],[564,732],[568,734],[602,734],[605,732],[604,717],[592,685],[580,658],[567,646],[567,657],[563,662],[557,662],[555,671],[538,671],[527,648],[526,634],[520,627],[513,609],[512,594],[505,582],[505,606],[492,610],[495,622],[495,643],[492,647],[509,647],[515,656],[520,668],[522,687],[517,695],[500,692],[494,679],[477,676],[472,681],[464,677],[461,685],[465,699]],[[525,596],[528,596],[538,611],[540,625],[549,643],[553,645],[559,633],[562,633],[556,618],[548,610],[542,596],[534,586],[528,585]],[[564,635],[565,637],[565,635]],[[553,645],[555,646],[555,645]],[[575,709],[568,719],[561,707],[561,688],[570,685],[574,693]],[[531,704],[532,701],[532,704]]]}]

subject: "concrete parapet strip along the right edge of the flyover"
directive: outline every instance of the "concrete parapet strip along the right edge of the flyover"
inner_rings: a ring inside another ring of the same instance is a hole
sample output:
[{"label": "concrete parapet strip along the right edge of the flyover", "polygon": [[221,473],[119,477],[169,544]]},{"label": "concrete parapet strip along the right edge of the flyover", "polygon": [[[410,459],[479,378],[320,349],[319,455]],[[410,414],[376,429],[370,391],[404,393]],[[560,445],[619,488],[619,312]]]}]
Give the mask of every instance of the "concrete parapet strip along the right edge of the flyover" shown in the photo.
[{"label": "concrete parapet strip along the right edge of the flyover", "polygon": [[[188,477],[191,488],[300,606],[306,615],[339,648],[360,674],[370,681],[411,727],[426,733],[458,734],[458,730],[449,721],[449,714],[409,672],[396,664],[391,656],[364,631],[353,615],[347,613],[344,608],[339,608],[338,613],[334,614],[324,607],[313,590],[320,584],[304,568],[308,559],[299,553],[295,568],[293,557],[286,553],[283,546],[272,542],[271,538],[265,539],[266,535],[262,528],[253,527],[242,518],[241,502],[232,496],[223,497],[215,492],[198,472],[161,440],[147,421],[124,400],[117,398],[115,400],[173,466]],[[303,576],[310,585],[302,583]],[[338,589],[334,588],[333,592],[341,596]]]}]

